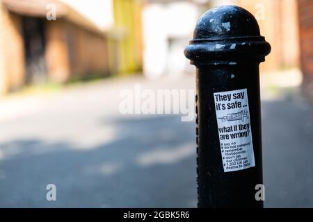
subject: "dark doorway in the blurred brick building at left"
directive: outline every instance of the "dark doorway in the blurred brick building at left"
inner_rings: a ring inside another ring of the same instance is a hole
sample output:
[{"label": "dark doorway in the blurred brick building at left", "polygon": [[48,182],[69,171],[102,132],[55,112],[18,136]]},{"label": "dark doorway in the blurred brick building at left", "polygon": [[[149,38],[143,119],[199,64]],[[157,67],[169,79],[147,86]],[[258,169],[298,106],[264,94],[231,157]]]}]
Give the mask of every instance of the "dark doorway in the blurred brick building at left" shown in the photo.
[{"label": "dark doorway in the blurred brick building at left", "polygon": [[44,24],[44,19],[23,17],[26,84],[40,84],[47,81]]}]

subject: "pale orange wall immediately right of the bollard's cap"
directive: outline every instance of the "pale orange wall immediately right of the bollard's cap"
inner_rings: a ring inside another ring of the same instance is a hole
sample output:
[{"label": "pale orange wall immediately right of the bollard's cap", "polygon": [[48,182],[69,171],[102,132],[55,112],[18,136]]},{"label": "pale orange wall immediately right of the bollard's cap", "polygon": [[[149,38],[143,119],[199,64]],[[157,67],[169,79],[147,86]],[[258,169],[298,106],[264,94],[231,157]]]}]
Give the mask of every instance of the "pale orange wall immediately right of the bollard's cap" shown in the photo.
[{"label": "pale orange wall immediately right of the bollard's cap", "polygon": [[266,41],[272,46],[261,71],[299,66],[298,11],[296,0],[235,0],[257,19]]}]

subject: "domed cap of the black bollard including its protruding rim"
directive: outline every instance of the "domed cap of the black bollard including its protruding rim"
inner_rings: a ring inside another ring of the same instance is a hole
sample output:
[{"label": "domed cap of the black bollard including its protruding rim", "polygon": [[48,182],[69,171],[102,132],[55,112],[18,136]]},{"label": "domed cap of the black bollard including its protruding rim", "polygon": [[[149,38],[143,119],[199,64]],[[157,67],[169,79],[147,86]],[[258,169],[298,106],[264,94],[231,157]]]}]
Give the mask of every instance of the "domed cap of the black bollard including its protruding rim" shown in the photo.
[{"label": "domed cap of the black bollard including its protruding rim", "polygon": [[270,51],[250,12],[239,6],[219,6],[200,17],[184,53],[197,66],[262,62]]}]

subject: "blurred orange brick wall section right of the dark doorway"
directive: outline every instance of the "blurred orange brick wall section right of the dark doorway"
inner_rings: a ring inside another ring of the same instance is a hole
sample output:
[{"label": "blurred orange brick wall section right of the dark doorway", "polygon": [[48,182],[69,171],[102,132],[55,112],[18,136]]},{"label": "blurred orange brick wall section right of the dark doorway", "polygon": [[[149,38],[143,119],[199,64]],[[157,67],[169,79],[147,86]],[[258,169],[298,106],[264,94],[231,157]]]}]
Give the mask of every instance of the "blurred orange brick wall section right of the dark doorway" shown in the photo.
[{"label": "blurred orange brick wall section right of the dark doorway", "polygon": [[64,83],[71,78],[104,76],[109,73],[106,37],[59,19],[46,22],[49,78]]}]

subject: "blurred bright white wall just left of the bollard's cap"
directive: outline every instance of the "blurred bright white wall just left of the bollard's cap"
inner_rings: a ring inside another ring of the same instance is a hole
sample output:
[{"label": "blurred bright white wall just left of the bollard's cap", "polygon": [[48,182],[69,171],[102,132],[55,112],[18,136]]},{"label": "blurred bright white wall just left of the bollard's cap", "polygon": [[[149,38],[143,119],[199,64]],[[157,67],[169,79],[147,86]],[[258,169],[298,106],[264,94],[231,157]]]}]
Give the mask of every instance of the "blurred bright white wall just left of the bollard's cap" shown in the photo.
[{"label": "blurred bright white wall just left of the bollard's cap", "polygon": [[[187,1],[149,3],[143,8],[143,72],[147,78],[182,74],[184,48],[192,39],[198,7]],[[170,44],[169,40],[172,40]]]}]

